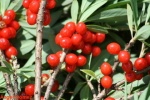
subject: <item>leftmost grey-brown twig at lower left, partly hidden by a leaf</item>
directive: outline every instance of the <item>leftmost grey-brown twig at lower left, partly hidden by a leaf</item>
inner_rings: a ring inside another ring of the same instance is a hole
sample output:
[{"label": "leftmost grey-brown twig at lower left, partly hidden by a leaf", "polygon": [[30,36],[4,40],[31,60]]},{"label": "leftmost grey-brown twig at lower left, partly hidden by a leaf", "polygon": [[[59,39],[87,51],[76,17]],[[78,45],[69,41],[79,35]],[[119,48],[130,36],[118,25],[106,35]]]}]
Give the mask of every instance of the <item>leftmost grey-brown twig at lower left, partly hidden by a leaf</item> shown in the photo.
[{"label": "leftmost grey-brown twig at lower left, partly hidden by a leaf", "polygon": [[[5,64],[3,63],[2,60],[6,60],[5,59],[5,56],[3,54],[3,52],[0,50],[0,57],[1,57],[1,65],[6,67]],[[13,86],[12,86],[12,83],[11,83],[11,78],[9,76],[8,73],[3,73],[3,77],[5,79],[5,82],[6,82],[6,89],[7,89],[7,92],[10,96],[14,96],[14,90],[13,90]]]}]

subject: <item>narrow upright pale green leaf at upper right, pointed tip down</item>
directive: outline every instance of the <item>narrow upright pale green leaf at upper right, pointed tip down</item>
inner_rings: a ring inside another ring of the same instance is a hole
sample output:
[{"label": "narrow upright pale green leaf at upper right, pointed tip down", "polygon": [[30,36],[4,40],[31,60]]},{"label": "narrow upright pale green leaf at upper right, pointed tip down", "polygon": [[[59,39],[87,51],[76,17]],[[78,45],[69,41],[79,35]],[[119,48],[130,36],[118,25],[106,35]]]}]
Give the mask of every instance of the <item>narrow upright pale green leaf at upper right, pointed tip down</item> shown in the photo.
[{"label": "narrow upright pale green leaf at upper right, pointed tip down", "polygon": [[127,18],[131,36],[133,37],[133,12],[129,4],[127,4]]}]

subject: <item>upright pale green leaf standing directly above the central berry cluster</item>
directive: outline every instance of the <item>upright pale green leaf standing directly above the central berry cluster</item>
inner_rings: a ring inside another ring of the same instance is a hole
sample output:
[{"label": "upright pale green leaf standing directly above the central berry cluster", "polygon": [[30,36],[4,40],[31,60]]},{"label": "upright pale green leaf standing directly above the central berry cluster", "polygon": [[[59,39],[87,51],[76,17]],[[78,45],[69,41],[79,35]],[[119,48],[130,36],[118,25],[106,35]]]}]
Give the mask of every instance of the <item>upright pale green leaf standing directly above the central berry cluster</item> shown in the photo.
[{"label": "upright pale green leaf standing directly above the central berry cluster", "polygon": [[73,0],[71,5],[71,18],[76,23],[78,19],[79,4],[77,0]]}]

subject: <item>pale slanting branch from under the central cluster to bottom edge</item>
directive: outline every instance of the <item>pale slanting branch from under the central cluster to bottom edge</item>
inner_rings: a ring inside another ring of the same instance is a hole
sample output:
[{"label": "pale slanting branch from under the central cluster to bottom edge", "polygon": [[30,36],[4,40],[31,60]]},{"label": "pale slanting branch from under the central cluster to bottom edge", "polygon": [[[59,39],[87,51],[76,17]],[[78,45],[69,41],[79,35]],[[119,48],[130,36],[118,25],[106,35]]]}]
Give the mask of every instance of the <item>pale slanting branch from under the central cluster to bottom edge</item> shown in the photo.
[{"label": "pale slanting branch from under the central cluster to bottom edge", "polygon": [[48,84],[46,92],[45,92],[44,100],[48,100],[48,98],[49,98],[49,94],[50,94],[51,88],[52,88],[52,86],[54,84],[54,80],[55,80],[55,78],[56,78],[56,76],[57,76],[57,74],[58,74],[58,72],[59,72],[59,70],[60,70],[60,68],[61,68],[61,66],[63,64],[64,58],[66,56],[66,53],[67,53],[67,51],[63,51],[62,52],[62,55],[61,55],[61,58],[60,58],[60,63],[57,66],[57,68],[54,70],[54,73],[52,74],[52,76],[51,76],[51,78],[49,80],[49,84]]}]

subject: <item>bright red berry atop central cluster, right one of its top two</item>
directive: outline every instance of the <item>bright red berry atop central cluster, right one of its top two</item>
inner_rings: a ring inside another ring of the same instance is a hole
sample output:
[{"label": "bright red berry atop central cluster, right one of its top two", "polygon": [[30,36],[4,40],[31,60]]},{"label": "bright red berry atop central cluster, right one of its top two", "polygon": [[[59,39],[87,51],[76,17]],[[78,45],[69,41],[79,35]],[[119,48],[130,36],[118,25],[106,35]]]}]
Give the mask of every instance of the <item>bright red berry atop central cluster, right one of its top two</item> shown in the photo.
[{"label": "bright red berry atop central cluster, right one of its top two", "polygon": [[84,35],[87,31],[87,27],[86,25],[83,23],[83,22],[79,22],[77,25],[76,25],[76,32],[81,34],[81,35]]}]

